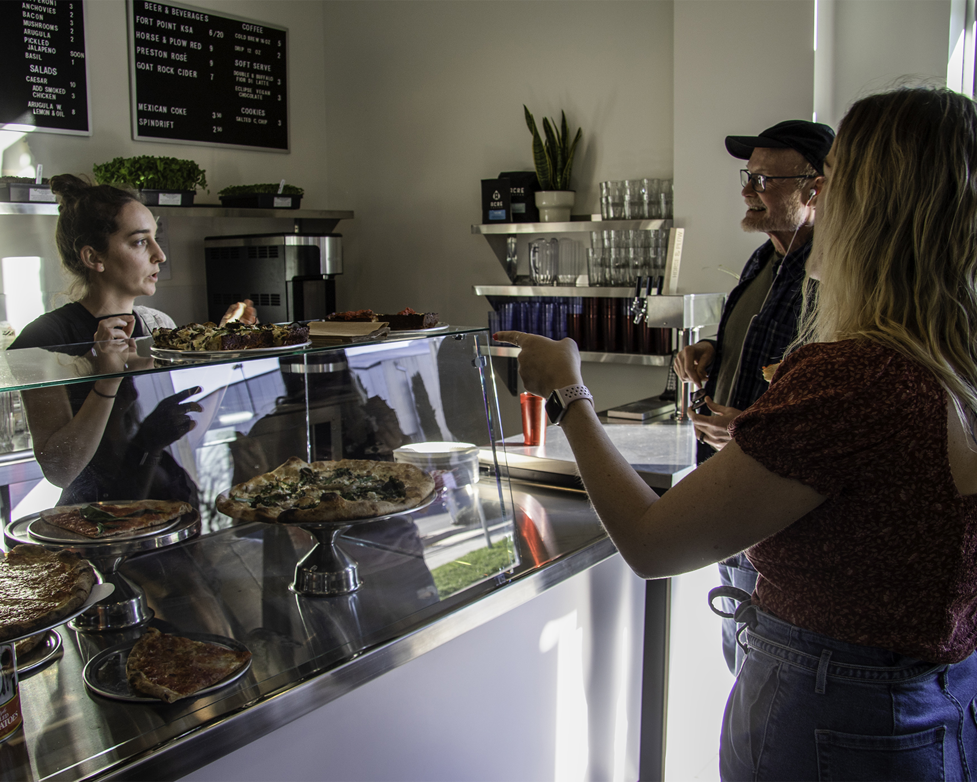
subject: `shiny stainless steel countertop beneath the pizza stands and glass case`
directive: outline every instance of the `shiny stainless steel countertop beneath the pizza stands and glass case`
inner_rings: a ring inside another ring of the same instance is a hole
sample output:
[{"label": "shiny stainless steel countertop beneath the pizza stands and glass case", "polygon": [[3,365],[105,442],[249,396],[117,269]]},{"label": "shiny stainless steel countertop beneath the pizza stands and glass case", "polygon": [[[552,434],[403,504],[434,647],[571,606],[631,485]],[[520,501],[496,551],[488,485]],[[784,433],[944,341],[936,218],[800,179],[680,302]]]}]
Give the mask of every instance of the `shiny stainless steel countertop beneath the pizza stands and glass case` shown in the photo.
[{"label": "shiny stainless steel countertop beneath the pizza stands and glass case", "polygon": [[0,745],[0,778],[190,773],[615,553],[582,493],[512,489],[522,564],[445,600],[409,516],[347,533],[363,586],[341,597],[288,590],[312,545],[293,528],[244,524],[128,561],[122,571],[146,588],[152,626],[234,637],[253,653],[250,671],[173,705],[111,701],[85,688],[82,668],[141,630],[62,628],[64,657],[21,682],[24,728]]}]

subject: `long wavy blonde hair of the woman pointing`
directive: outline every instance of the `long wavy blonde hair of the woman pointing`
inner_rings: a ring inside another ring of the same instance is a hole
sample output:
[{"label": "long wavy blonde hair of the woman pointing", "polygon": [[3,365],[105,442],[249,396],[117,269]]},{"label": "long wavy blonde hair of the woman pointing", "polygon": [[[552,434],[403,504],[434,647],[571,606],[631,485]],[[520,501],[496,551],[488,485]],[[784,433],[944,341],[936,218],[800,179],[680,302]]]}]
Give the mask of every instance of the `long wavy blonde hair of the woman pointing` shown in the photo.
[{"label": "long wavy blonde hair of the woman pointing", "polygon": [[977,107],[945,89],[855,103],[818,210],[798,337],[863,338],[933,371],[977,411]]}]

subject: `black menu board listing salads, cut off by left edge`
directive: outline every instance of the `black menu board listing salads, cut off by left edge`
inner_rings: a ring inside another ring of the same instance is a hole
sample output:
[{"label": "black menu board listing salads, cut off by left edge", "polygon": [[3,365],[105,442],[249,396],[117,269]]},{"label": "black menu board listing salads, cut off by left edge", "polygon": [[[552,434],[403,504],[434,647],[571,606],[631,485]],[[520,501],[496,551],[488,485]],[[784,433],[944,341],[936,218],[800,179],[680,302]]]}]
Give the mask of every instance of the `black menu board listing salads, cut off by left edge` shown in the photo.
[{"label": "black menu board listing salads, cut off by left edge", "polygon": [[0,129],[91,136],[81,0],[0,2]]}]

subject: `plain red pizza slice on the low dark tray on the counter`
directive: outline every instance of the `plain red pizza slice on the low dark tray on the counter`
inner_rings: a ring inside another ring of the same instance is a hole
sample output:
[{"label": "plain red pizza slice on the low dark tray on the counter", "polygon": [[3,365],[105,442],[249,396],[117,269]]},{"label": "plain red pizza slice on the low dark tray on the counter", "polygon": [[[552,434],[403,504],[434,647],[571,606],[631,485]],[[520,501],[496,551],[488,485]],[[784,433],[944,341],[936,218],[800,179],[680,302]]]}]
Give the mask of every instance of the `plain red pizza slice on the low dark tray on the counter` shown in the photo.
[{"label": "plain red pizza slice on the low dark tray on the counter", "polygon": [[249,651],[149,628],[129,652],[125,673],[137,692],[174,703],[247,665]]}]

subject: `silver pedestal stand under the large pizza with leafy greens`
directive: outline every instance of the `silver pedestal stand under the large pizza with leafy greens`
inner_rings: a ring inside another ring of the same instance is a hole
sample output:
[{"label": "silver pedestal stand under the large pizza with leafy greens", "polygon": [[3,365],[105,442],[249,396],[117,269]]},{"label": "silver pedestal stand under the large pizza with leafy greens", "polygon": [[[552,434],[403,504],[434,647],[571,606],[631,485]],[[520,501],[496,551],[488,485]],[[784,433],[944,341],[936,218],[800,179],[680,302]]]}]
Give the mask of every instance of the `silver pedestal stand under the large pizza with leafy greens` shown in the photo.
[{"label": "silver pedestal stand under the large pizza with leafy greens", "polygon": [[[228,497],[223,492],[221,497]],[[299,560],[295,566],[295,580],[288,588],[298,594],[315,596],[329,596],[336,594],[350,594],[360,588],[362,581],[357,561],[344,551],[339,545],[339,536],[350,527],[370,524],[375,521],[404,516],[423,510],[438,498],[438,490],[429,494],[424,500],[413,507],[399,510],[397,513],[386,513],[383,516],[373,516],[367,519],[353,521],[319,521],[319,522],[281,522],[283,527],[298,527],[308,532],[316,540],[313,549]],[[269,522],[274,523],[274,522]]]}]

